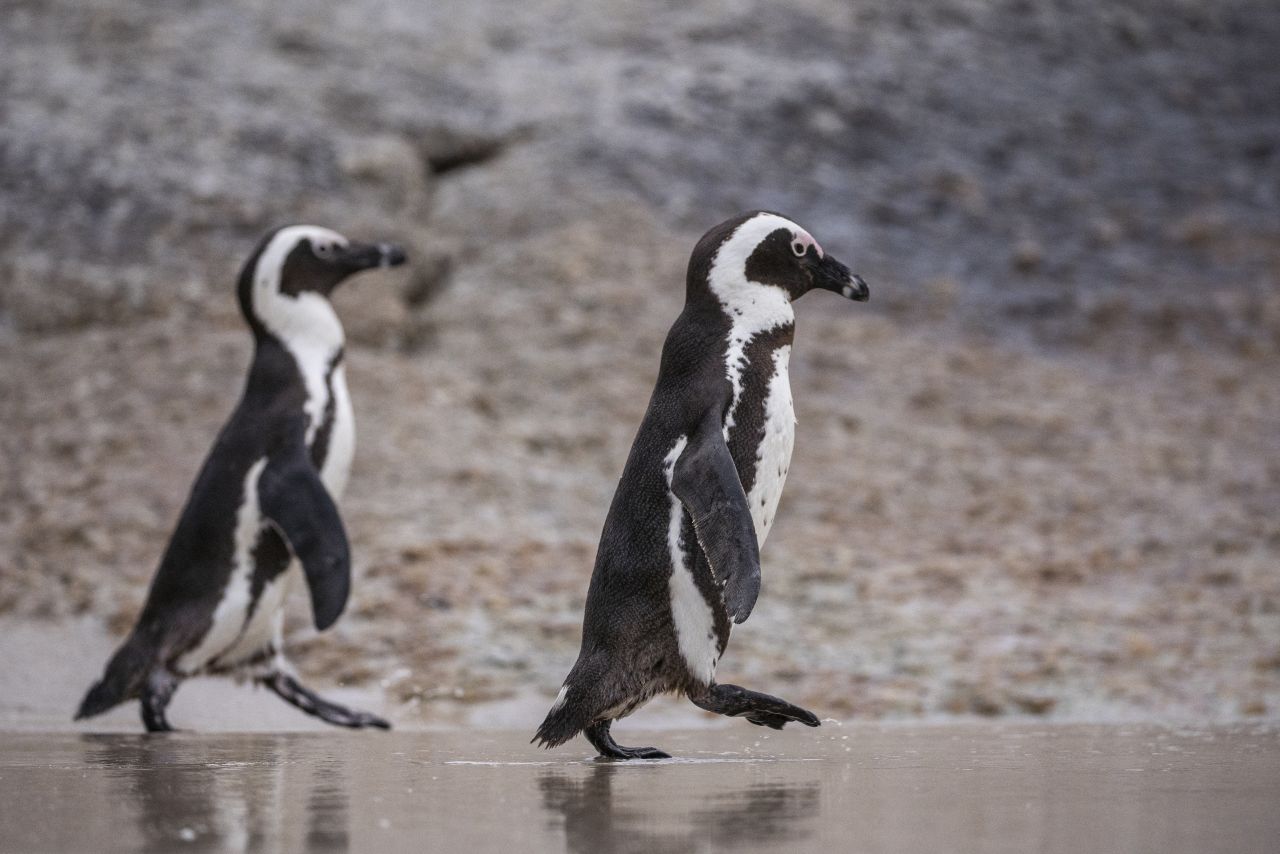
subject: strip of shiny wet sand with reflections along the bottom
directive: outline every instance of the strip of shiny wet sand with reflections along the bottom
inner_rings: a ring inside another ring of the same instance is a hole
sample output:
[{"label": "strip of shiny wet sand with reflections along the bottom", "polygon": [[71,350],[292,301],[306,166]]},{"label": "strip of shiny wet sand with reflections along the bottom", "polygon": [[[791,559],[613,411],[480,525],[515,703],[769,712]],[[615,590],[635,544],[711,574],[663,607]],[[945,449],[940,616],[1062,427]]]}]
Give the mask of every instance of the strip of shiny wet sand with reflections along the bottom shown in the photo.
[{"label": "strip of shiny wet sand with reflections along the bottom", "polygon": [[13,734],[0,849],[1272,851],[1280,729]]}]

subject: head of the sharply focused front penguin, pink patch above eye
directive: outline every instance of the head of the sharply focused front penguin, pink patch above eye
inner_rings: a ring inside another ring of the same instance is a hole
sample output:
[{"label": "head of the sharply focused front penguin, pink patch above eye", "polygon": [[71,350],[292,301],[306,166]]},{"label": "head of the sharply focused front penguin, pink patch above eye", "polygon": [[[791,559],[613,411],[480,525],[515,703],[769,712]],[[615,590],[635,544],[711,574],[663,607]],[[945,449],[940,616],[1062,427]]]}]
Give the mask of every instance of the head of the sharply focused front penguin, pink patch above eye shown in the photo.
[{"label": "head of the sharply focused front penguin, pink patch above eye", "polygon": [[860,275],[824,252],[818,241],[786,216],[750,211],[707,232],[689,260],[689,293],[709,291],[728,310],[744,302],[787,302],[814,288],[865,302]]}]

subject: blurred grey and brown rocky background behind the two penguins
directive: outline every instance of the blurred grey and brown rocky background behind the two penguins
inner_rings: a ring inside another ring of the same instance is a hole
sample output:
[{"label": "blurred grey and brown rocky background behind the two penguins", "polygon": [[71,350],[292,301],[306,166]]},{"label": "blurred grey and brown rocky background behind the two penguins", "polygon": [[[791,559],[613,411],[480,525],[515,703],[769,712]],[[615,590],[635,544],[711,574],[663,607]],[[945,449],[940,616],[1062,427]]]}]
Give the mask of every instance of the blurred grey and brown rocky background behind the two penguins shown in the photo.
[{"label": "blurred grey and brown rocky background behind the two penguins", "polygon": [[294,603],[298,666],[532,726],[687,254],[768,207],[873,300],[797,306],[722,677],[836,717],[1280,717],[1276,4],[0,18],[0,620],[128,629],[248,364],[237,269],[314,222],[412,264],[335,300],[360,579],[325,635]]}]

